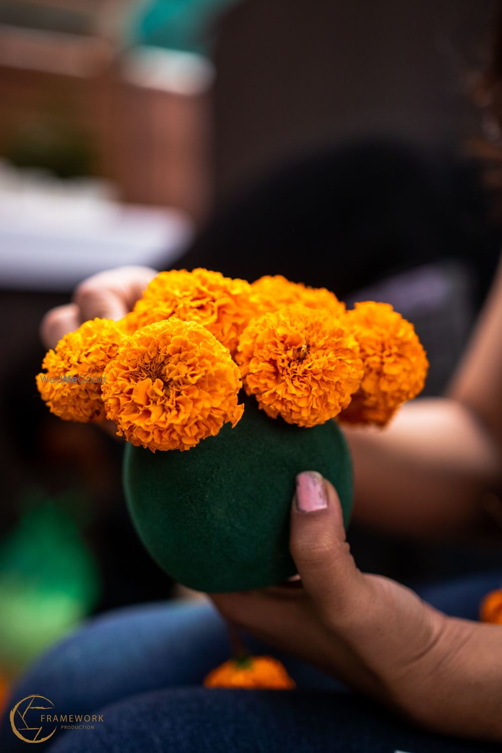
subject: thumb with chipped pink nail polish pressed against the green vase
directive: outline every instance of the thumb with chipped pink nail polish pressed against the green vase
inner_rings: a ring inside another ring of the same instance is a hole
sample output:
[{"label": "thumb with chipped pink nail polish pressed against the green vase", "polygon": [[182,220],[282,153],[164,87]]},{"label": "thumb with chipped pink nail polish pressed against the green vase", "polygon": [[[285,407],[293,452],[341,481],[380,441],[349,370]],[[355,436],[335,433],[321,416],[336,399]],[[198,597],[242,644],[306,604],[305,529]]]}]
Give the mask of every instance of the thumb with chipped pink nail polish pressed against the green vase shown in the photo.
[{"label": "thumb with chipped pink nail polish pressed against the green vase", "polygon": [[303,587],[321,614],[339,625],[368,599],[367,581],[345,541],[342,508],[334,486],[316,471],[297,476],[291,509],[291,555]]}]

